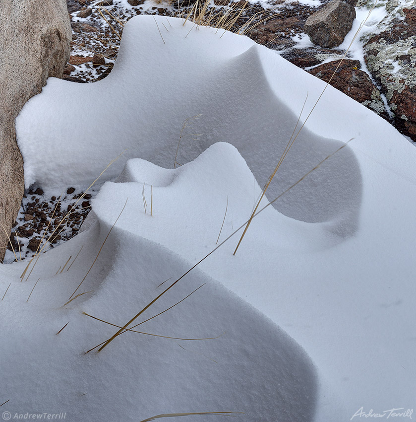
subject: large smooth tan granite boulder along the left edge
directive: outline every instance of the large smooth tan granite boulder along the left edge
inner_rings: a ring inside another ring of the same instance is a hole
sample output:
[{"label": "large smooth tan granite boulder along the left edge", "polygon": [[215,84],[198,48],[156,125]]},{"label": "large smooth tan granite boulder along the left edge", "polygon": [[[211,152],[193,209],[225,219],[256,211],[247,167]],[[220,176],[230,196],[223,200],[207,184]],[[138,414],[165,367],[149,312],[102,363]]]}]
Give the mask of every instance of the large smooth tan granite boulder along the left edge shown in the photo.
[{"label": "large smooth tan granite boulder along the left edge", "polygon": [[61,77],[71,27],[65,0],[0,2],[0,259],[24,191],[14,119],[49,76]]}]

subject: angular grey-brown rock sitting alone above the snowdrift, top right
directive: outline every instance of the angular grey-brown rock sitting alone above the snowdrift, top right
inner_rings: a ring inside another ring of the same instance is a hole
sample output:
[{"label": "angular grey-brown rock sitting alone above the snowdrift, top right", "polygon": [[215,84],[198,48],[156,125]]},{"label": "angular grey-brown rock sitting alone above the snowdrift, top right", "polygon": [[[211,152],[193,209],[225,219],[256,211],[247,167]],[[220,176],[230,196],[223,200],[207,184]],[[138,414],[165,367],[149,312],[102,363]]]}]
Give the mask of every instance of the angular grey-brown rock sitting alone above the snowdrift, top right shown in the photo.
[{"label": "angular grey-brown rock sitting alone above the snowdrift, top right", "polygon": [[344,41],[355,18],[356,9],[351,4],[332,0],[306,19],[303,30],[314,44],[335,47]]}]

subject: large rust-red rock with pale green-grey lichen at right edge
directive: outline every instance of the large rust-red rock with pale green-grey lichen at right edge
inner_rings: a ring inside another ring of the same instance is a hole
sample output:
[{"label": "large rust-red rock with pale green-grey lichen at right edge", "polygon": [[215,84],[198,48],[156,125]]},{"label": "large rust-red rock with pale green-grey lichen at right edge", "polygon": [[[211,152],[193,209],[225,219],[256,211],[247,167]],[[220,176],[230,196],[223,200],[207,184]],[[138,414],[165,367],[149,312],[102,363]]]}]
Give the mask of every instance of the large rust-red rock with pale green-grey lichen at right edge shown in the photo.
[{"label": "large rust-red rock with pale green-grey lichen at right edge", "polygon": [[416,7],[396,0],[378,32],[364,41],[364,60],[395,115],[395,126],[416,141]]}]

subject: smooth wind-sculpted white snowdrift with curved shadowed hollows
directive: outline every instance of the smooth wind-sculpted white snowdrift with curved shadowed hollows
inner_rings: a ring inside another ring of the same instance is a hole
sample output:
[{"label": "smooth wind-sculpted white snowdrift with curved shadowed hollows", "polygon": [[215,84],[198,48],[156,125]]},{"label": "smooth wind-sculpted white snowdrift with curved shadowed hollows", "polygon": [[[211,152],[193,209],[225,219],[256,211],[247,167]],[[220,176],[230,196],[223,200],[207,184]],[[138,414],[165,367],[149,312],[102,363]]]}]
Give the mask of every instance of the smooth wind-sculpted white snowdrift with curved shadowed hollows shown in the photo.
[{"label": "smooth wind-sculpted white snowdrift with curved shadowed hollows", "polygon": [[416,150],[330,86],[268,199],[348,146],[256,216],[235,256],[241,230],[128,325],[203,285],[134,330],[211,339],[125,332],[85,353],[119,328],[83,312],[125,326],[247,220],[324,87],[246,37],[160,16],[128,22],[106,79],[49,79],[16,121],[26,186],[89,184],[124,153],[79,235],[22,281],[26,262],[0,267],[0,411],[411,419]]}]

